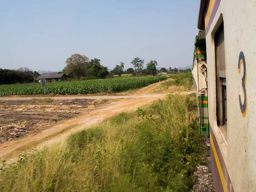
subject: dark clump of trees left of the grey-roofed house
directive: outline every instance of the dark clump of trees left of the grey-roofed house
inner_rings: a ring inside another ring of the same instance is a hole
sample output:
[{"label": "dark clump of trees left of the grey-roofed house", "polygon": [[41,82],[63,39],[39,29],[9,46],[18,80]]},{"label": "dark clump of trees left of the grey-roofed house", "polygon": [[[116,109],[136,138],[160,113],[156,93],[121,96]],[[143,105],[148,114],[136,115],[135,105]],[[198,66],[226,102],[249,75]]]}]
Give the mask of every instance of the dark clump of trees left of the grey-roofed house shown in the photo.
[{"label": "dark clump of trees left of the grey-roofed house", "polygon": [[31,83],[40,74],[29,68],[20,67],[18,70],[0,69],[0,84]]}]

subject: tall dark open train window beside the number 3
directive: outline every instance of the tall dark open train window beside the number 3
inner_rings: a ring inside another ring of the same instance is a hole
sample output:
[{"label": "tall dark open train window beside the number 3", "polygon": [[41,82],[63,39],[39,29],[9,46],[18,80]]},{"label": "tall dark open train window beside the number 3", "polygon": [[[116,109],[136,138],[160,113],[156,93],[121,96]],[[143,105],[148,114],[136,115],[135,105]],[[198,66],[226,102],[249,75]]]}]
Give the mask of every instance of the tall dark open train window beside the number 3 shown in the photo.
[{"label": "tall dark open train window beside the number 3", "polygon": [[227,131],[227,85],[224,42],[224,24],[221,23],[215,33],[217,124],[218,126],[224,126]]}]

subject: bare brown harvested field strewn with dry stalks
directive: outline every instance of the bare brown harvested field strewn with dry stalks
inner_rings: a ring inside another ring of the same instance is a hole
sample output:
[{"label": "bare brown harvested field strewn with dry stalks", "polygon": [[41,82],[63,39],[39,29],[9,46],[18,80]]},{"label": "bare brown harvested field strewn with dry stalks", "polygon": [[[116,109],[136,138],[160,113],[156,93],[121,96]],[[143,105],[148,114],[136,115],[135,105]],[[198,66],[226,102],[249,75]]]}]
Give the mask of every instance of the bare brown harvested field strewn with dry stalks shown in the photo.
[{"label": "bare brown harvested field strewn with dry stalks", "polygon": [[49,125],[79,116],[93,104],[92,99],[2,100],[0,101],[0,143],[37,134]]}]

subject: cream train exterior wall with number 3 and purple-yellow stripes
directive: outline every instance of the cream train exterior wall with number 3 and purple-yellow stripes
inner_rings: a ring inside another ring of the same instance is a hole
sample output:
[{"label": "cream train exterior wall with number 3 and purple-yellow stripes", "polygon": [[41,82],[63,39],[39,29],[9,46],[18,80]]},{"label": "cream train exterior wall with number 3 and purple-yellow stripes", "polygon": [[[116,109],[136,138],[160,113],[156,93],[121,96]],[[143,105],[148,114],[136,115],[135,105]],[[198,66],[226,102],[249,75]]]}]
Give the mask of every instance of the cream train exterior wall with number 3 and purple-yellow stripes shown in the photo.
[{"label": "cream train exterior wall with number 3 and purple-yellow stripes", "polygon": [[207,86],[215,189],[217,192],[254,192],[256,0],[201,0],[198,29],[205,32],[206,83],[198,70],[200,62],[196,52],[192,73],[198,93]]}]

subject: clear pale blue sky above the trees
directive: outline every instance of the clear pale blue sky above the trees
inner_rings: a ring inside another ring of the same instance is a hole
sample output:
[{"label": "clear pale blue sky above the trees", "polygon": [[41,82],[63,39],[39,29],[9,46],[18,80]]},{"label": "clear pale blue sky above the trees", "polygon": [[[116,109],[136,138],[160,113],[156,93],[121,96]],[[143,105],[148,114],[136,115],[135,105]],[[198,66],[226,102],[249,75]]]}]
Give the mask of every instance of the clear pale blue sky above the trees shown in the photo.
[{"label": "clear pale blue sky above the trees", "polygon": [[62,70],[74,53],[113,69],[140,57],[158,67],[192,64],[200,0],[6,0],[0,68]]}]

